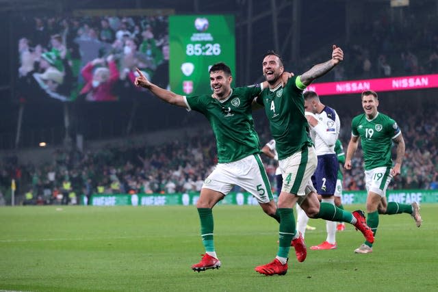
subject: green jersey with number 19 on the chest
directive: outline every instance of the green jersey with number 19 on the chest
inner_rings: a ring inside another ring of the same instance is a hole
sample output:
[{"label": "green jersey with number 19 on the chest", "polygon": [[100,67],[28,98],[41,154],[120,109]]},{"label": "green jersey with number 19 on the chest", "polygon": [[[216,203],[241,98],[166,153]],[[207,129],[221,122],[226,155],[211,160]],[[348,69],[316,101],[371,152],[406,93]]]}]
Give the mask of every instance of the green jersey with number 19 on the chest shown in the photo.
[{"label": "green jersey with number 19 on the chest", "polygon": [[392,166],[392,139],[402,133],[395,120],[381,113],[368,120],[365,114],[360,114],[353,118],[351,131],[361,138],[365,170]]}]

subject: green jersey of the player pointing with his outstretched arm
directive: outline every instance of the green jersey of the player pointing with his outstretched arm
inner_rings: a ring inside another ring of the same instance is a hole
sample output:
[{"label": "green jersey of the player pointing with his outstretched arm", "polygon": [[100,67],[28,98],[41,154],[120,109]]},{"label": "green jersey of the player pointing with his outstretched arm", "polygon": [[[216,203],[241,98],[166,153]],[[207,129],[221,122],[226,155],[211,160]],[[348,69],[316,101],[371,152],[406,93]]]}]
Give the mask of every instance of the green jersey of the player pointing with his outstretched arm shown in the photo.
[{"label": "green jersey of the player pointing with his outstretched arm", "polygon": [[222,101],[211,95],[189,96],[189,109],[203,114],[213,129],[218,162],[237,161],[260,151],[259,136],[254,129],[251,104],[261,92],[259,85],[233,88]]}]

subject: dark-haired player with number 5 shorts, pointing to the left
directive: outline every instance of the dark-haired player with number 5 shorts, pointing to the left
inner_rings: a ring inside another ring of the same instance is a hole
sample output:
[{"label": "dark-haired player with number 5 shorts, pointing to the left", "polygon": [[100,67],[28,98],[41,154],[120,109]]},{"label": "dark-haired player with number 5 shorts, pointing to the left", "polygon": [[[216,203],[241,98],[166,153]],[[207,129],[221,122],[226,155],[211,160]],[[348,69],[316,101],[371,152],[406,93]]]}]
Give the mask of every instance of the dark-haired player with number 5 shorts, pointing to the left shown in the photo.
[{"label": "dark-haired player with number 5 shorts, pointing to the left", "polygon": [[[221,263],[214,248],[214,221],[211,209],[227,196],[234,185],[250,192],[265,213],[280,222],[273,200],[268,176],[259,157],[259,137],[254,129],[253,99],[263,87],[255,85],[231,88],[233,77],[229,66],[218,63],[211,66],[210,85],[213,94],[181,96],[151,83],[140,70],[136,85],[150,90],[166,103],[203,114],[213,129],[218,150],[218,165],[205,179],[201,195],[196,202],[201,221],[201,237],[205,254],[201,262],[192,265],[194,271],[219,268]],[[288,79],[289,73],[285,73]],[[285,81],[284,81],[285,82]],[[268,86],[265,83],[264,86]]]}]

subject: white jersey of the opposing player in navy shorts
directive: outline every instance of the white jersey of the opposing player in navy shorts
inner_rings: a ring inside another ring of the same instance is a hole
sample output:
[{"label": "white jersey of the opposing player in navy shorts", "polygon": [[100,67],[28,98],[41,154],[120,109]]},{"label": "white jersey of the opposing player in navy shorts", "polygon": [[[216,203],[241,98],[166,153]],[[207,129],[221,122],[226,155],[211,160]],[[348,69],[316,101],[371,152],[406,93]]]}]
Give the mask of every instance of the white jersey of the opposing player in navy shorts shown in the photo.
[{"label": "white jersey of the opposing player in navy shorts", "polygon": [[335,109],[327,106],[315,116],[318,124],[311,127],[310,136],[315,144],[316,155],[334,154],[341,128],[339,116],[337,116]]}]

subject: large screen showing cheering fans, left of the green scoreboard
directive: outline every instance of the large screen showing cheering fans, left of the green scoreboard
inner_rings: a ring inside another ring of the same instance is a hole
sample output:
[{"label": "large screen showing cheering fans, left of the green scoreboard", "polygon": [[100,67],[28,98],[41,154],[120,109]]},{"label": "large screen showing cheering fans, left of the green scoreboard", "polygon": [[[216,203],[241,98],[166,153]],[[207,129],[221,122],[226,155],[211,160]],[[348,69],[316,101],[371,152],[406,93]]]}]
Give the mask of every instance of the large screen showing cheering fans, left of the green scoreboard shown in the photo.
[{"label": "large screen showing cheering fans, left of the green scoreboard", "polygon": [[18,91],[28,101],[118,101],[132,96],[136,68],[168,79],[164,10],[88,10],[22,18]]}]

